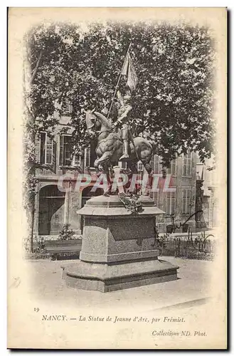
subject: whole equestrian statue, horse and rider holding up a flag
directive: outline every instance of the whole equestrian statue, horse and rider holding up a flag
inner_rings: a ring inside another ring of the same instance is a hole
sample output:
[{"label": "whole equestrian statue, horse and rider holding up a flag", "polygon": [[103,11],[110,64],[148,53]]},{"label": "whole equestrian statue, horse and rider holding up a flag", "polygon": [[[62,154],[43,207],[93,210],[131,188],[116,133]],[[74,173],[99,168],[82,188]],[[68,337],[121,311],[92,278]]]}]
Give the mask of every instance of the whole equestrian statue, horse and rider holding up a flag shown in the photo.
[{"label": "whole equestrian statue, horse and rider holding up a flag", "polygon": [[[135,90],[137,75],[129,56],[129,49],[119,80],[121,75],[127,78],[126,87],[128,86],[131,91]],[[112,104],[107,117],[95,109],[85,111],[87,132],[91,136],[97,135],[97,147],[95,150],[97,159],[94,165],[98,172],[107,174],[108,182],[110,182],[110,169],[116,166],[119,161],[127,162],[128,169],[132,174],[137,173],[137,162],[142,162],[149,175],[152,171],[150,160],[153,154],[153,146],[144,137],[133,137],[131,130],[131,122],[134,121],[134,118],[132,120],[132,98],[129,90],[125,90],[123,95],[117,90],[119,80],[112,99],[113,104],[117,94],[119,108],[115,122],[109,118]]]}]

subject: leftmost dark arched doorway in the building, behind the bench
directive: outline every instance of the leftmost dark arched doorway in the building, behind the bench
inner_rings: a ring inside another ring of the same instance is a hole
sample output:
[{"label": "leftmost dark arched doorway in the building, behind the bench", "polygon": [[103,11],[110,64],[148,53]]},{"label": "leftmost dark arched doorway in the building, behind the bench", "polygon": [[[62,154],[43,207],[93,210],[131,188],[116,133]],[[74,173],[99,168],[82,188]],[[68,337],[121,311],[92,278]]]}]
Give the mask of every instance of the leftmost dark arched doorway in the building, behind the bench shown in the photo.
[{"label": "leftmost dark arched doorway in the building, behind the bench", "polygon": [[38,234],[57,235],[63,228],[65,192],[50,184],[39,192]]}]

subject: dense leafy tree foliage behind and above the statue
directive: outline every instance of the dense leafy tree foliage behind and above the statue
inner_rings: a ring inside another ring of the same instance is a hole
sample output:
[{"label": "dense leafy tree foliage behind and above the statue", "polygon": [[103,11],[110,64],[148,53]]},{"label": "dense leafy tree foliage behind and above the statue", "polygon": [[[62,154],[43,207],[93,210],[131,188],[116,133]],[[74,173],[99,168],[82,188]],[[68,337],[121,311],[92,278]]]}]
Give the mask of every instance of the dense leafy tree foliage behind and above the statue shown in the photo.
[{"label": "dense leafy tree foliage behind and above the statue", "polygon": [[[137,132],[154,140],[168,164],[189,149],[211,157],[215,137],[212,34],[186,23],[69,23],[37,26],[28,33],[35,130],[51,129],[65,99],[80,152],[87,145],[83,109],[107,113],[129,43],[139,83],[133,100]],[[39,61],[39,63],[38,63]],[[122,87],[124,83],[120,83]],[[115,120],[116,105],[110,117]]]}]

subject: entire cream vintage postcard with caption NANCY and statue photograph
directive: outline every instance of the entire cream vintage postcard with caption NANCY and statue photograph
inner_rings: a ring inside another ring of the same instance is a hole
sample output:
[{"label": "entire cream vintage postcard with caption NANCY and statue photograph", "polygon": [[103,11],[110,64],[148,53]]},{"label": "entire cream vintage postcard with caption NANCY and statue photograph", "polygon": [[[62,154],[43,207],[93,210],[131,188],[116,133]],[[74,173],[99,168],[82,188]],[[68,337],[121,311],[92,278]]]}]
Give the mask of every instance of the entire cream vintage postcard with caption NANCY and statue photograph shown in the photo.
[{"label": "entire cream vintage postcard with caption NANCY and statue photograph", "polygon": [[8,347],[227,347],[227,9],[9,9]]}]

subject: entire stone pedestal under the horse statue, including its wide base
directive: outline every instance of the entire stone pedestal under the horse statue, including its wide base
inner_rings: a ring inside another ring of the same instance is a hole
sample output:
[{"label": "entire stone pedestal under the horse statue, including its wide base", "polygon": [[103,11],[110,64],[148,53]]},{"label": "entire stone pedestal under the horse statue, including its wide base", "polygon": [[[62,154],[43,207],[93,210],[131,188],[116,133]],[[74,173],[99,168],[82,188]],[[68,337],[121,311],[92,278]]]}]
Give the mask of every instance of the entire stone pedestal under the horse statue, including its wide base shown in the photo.
[{"label": "entire stone pedestal under the horse statue, including its wide base", "polygon": [[117,196],[93,197],[78,211],[84,217],[80,261],[63,268],[73,288],[109,292],[174,281],[177,268],[158,259],[155,216],[164,214],[149,197],[131,214]]}]

